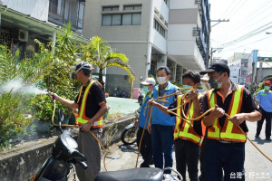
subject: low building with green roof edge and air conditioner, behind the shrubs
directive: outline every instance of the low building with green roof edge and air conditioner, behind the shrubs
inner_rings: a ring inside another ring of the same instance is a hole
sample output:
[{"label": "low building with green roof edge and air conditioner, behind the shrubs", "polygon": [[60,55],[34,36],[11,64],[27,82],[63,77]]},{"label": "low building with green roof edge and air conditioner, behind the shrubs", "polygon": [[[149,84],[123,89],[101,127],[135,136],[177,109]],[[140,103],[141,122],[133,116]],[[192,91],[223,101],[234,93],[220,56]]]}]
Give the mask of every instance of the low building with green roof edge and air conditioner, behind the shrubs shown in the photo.
[{"label": "low building with green roof edge and air conditioner, behind the shrubs", "polygon": [[13,51],[19,50],[21,58],[38,50],[34,39],[43,43],[54,41],[63,24],[71,22],[73,39],[87,43],[83,29],[83,0],[1,0],[0,43]]}]

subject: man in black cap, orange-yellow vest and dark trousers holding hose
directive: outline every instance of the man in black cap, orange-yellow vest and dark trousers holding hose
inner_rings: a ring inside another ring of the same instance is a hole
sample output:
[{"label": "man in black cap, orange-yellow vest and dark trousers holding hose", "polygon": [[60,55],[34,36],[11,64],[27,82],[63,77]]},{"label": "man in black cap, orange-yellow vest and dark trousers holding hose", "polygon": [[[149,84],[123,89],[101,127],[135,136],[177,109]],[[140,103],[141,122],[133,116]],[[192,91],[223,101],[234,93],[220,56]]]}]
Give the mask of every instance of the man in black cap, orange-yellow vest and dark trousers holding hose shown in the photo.
[{"label": "man in black cap, orange-yellow vest and dark trousers holding hose", "polygon": [[[250,92],[229,80],[229,68],[224,62],[213,63],[206,71],[212,90],[202,99],[202,112],[213,109],[202,120],[207,127],[203,158],[203,180],[245,180],[246,120],[257,121],[257,110]],[[227,117],[226,114],[228,114]]]}]

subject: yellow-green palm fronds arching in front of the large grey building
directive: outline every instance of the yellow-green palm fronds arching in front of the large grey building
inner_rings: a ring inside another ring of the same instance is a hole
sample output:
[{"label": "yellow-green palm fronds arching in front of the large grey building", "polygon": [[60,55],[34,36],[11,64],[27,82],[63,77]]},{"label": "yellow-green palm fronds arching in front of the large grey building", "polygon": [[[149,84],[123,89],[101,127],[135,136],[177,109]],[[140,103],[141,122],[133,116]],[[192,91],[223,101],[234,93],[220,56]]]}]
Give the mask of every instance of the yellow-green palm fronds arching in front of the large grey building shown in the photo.
[{"label": "yellow-green palm fronds arching in front of the large grey building", "polygon": [[83,46],[83,60],[89,61],[99,68],[98,81],[102,82],[102,71],[111,66],[120,67],[129,74],[129,81],[134,81],[134,72],[128,64],[128,57],[121,53],[116,52],[112,47],[101,37],[92,37],[91,43]]}]

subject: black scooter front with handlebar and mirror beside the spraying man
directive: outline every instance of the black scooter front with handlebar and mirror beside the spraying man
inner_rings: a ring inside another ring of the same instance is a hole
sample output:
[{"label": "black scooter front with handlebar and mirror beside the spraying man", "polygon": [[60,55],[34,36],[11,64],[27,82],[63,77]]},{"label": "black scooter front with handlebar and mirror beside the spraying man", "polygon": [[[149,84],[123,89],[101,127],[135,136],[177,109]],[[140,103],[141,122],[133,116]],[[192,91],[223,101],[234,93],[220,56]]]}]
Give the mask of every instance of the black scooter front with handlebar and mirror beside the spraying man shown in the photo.
[{"label": "black scooter front with handlebar and mirror beside the spraying man", "polygon": [[[58,122],[62,135],[54,141],[52,156],[46,159],[43,167],[33,177],[33,181],[67,181],[71,176],[73,176],[73,181],[75,181],[76,171],[74,164],[78,163],[84,169],[88,167],[85,163],[86,158],[77,150],[78,145],[72,138],[71,129],[62,129],[63,110],[59,110]],[[71,173],[72,169],[73,175]]]}]

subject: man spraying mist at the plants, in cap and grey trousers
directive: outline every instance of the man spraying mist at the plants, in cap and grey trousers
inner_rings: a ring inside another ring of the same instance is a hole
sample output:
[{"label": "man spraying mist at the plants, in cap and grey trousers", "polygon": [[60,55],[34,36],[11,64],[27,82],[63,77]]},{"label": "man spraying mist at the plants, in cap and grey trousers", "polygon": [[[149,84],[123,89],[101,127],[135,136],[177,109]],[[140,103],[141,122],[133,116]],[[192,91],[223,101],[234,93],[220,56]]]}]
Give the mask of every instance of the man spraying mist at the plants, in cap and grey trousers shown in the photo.
[{"label": "man spraying mist at the plants, in cap and grey trousers", "polygon": [[79,62],[71,67],[74,71],[72,79],[81,81],[83,86],[75,100],[66,100],[56,94],[52,94],[55,100],[64,105],[76,109],[76,123],[80,127],[77,138],[78,149],[87,158],[87,169],[76,167],[77,176],[82,181],[92,181],[101,169],[101,148],[99,143],[89,133],[91,130],[96,138],[102,136],[102,116],[109,109],[102,85],[92,80],[92,65],[88,62]]}]

